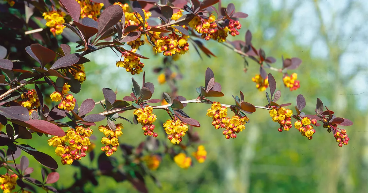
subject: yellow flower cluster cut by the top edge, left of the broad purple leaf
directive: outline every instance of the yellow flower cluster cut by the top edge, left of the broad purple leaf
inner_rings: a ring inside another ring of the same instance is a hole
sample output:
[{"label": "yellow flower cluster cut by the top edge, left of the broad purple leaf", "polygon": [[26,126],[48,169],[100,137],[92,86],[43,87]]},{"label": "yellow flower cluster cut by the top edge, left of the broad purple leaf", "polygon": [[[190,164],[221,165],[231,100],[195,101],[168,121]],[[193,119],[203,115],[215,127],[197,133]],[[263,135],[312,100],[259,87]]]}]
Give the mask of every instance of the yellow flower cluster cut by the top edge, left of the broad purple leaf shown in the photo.
[{"label": "yellow flower cluster cut by the top edge, left of the broad purple leaf", "polygon": [[76,0],[81,6],[81,17],[89,17],[93,20],[97,20],[97,17],[101,14],[100,10],[103,7],[103,3],[95,3],[90,0]]}]

